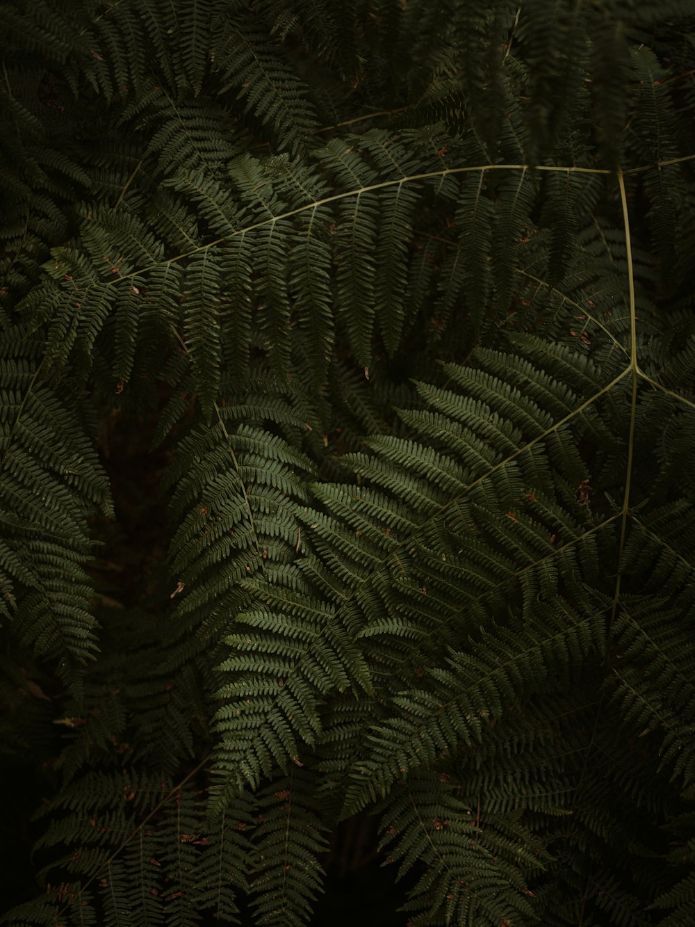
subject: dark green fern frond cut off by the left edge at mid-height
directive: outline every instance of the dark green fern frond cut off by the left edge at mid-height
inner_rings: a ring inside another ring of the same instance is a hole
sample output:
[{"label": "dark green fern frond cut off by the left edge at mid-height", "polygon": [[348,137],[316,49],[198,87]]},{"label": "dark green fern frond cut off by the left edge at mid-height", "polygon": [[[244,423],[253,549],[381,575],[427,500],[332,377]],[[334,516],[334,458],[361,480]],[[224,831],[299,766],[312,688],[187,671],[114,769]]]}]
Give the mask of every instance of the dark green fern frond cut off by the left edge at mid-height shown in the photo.
[{"label": "dark green fern frond cut off by the left edge at mid-height", "polygon": [[3,610],[22,646],[57,659],[74,685],[96,649],[87,519],[113,510],[87,419],[69,411],[69,388],[39,379],[39,345],[19,335],[6,330],[3,341]]}]

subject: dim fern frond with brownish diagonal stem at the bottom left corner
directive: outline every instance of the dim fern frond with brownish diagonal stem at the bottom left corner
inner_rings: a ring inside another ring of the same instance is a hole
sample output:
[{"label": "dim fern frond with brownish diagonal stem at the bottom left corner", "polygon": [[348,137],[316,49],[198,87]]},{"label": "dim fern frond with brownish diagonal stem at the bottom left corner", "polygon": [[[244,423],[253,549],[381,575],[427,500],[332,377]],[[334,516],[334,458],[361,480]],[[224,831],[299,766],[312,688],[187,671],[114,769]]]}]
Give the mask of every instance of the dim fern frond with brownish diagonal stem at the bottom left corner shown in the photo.
[{"label": "dim fern frond with brownish diagonal stem at the bottom left corner", "polygon": [[[85,816],[80,805],[90,794],[99,798]],[[190,787],[143,778],[133,768],[83,777],[51,808],[56,817],[43,841],[82,846],[64,860],[75,882],[48,886],[54,919],[67,908],[70,919],[77,911],[85,923],[115,923],[129,911],[137,924],[192,925],[210,910],[238,923],[235,897],[246,889],[249,857],[245,832],[255,823],[250,810],[246,798],[209,822]]]}]

